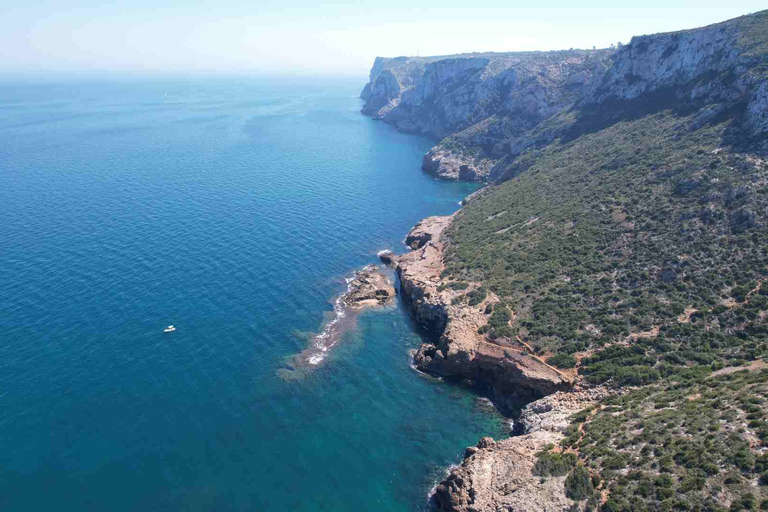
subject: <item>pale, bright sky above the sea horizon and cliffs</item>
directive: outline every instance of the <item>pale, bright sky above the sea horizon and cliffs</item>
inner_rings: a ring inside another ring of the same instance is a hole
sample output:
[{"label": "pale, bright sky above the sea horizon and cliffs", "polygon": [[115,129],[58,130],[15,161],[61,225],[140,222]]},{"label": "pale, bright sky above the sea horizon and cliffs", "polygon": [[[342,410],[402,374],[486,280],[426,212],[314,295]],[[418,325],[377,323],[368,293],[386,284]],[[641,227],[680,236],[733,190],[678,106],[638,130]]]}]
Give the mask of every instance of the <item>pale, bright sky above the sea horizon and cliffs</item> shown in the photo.
[{"label": "pale, bright sky above the sea horizon and cliffs", "polygon": [[0,73],[364,76],[379,55],[604,48],[766,8],[765,0],[172,4],[0,0]]}]

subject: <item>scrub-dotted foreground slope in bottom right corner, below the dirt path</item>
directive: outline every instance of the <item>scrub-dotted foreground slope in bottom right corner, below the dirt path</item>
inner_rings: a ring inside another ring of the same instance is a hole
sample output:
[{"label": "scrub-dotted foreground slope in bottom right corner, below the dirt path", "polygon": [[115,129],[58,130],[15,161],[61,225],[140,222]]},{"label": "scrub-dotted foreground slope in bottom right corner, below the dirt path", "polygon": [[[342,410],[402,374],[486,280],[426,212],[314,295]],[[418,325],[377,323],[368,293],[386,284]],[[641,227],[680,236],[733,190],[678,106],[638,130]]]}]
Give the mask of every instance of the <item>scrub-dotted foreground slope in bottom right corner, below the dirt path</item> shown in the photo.
[{"label": "scrub-dotted foreground slope in bottom right corner, below the dirt path", "polygon": [[[756,510],[768,500],[767,404],[768,370],[674,377],[610,398],[566,432],[566,495],[596,507],[594,490],[607,490],[603,511]],[[549,451],[538,455],[536,467],[563,474]]]}]

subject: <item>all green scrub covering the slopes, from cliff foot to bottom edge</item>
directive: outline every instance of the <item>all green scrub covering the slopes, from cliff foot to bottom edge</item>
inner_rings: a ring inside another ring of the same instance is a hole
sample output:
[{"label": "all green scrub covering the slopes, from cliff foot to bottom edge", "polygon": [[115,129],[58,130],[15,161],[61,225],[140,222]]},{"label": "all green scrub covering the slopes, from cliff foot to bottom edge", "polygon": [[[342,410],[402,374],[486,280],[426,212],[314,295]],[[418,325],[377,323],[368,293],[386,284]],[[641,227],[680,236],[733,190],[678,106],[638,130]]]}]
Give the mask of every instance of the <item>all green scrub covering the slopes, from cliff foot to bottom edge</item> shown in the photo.
[{"label": "all green scrub covering the slopes, from cliff foot to bottom edge", "polygon": [[[768,11],[722,30],[739,79],[767,79]],[[443,276],[499,299],[480,334],[624,388],[537,454],[574,509],[768,510],[768,140],[746,98],[702,92],[734,79],[577,104],[524,137],[491,120],[532,144],[444,233]]]}]

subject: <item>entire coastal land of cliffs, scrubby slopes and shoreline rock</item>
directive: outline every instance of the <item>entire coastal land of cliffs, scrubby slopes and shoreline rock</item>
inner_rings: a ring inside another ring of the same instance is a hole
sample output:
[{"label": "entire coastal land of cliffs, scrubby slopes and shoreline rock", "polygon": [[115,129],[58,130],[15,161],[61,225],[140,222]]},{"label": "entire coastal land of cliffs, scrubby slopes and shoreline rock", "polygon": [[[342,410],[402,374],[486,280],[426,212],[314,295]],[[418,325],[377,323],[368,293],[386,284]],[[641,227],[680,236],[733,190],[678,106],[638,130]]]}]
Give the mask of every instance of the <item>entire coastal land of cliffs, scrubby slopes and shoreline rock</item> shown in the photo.
[{"label": "entire coastal land of cliffs, scrubby slopes and shoreline rock", "polygon": [[[557,397],[468,450],[437,506],[768,508],[768,11],[504,55],[426,63],[377,114],[448,134],[425,170],[491,181],[393,258],[435,335],[417,366],[502,406]],[[446,67],[460,84],[435,85]]]}]

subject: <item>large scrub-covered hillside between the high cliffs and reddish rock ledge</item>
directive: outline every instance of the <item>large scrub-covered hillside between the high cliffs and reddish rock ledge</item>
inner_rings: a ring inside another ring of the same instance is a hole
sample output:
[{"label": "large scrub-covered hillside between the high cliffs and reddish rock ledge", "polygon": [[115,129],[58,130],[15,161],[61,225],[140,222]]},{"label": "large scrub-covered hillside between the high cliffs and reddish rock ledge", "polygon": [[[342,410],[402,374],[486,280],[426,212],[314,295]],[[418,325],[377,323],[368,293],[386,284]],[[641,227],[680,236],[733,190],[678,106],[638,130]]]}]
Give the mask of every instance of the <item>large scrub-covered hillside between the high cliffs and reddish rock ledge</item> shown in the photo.
[{"label": "large scrub-covered hillside between the high cliffs and reddish rock ledge", "polygon": [[617,386],[768,355],[768,163],[729,145],[736,114],[699,126],[693,108],[651,111],[598,131],[560,119],[586,133],[519,157],[448,231],[446,274],[515,312],[494,309],[481,332],[597,349],[580,373]]}]

